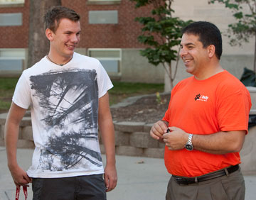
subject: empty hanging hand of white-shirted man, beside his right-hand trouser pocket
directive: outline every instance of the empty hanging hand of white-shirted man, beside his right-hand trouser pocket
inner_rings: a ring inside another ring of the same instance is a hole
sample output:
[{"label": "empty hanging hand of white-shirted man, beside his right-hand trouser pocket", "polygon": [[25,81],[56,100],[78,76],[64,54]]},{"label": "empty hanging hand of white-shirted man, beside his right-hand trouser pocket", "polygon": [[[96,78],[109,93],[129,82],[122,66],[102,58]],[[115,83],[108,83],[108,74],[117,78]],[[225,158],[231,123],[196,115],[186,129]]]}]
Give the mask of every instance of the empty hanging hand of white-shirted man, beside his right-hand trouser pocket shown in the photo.
[{"label": "empty hanging hand of white-shirted man, beside his right-hand trouser pocket", "polygon": [[106,191],[111,191],[117,186],[117,170],[115,166],[106,165],[104,179]]}]

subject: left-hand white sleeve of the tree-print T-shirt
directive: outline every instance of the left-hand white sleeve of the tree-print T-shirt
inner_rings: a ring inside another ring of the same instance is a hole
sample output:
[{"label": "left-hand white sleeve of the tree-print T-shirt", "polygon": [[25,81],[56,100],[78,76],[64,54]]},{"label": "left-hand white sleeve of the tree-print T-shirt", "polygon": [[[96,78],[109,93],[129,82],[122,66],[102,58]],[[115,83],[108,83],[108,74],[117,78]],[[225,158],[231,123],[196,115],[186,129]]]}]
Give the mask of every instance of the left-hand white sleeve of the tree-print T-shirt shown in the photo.
[{"label": "left-hand white sleeve of the tree-print T-shirt", "polygon": [[12,101],[23,109],[28,109],[31,104],[30,87],[24,73],[18,79]]}]

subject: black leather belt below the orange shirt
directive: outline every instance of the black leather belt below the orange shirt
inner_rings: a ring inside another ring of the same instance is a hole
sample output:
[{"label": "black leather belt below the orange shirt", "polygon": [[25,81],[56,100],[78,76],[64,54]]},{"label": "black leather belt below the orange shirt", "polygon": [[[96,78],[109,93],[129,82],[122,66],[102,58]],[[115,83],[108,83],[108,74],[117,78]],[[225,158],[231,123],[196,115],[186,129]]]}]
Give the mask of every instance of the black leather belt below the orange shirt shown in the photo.
[{"label": "black leather belt below the orange shirt", "polygon": [[[239,168],[240,168],[239,165],[235,165],[235,166],[225,168],[223,170],[219,170],[217,172],[212,172],[210,174],[205,174],[201,177],[186,178],[186,177],[176,177],[174,175],[173,175],[173,177],[174,177],[174,179],[176,180],[176,182],[178,184],[193,184],[193,183],[196,183],[196,182],[205,182],[205,181],[210,180],[210,179],[223,177],[225,175],[228,175],[228,174],[231,174],[235,171],[238,171]],[[227,170],[228,173],[225,172],[225,170]]]}]

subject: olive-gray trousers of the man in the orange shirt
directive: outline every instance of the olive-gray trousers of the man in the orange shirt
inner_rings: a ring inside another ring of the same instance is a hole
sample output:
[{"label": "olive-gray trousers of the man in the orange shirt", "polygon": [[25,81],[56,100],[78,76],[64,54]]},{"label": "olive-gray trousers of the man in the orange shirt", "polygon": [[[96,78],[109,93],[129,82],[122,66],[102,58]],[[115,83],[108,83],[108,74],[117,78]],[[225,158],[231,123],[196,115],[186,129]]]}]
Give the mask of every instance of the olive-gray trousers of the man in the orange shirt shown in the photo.
[{"label": "olive-gray trousers of the man in the orange shirt", "polygon": [[171,177],[166,200],[244,200],[245,180],[240,170],[194,184],[178,184]]}]

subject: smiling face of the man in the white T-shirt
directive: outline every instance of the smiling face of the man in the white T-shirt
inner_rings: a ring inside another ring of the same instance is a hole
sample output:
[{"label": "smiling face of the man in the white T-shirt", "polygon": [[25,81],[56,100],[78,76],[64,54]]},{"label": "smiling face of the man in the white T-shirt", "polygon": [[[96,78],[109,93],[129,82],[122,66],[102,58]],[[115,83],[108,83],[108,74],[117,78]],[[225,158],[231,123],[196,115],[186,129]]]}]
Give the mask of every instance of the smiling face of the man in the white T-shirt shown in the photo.
[{"label": "smiling face of the man in the white T-shirt", "polygon": [[51,48],[55,56],[73,57],[75,47],[80,41],[80,30],[80,21],[71,21],[68,18],[60,19],[59,26],[51,40]]}]

